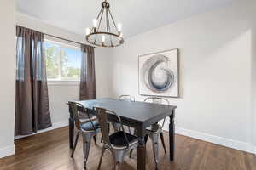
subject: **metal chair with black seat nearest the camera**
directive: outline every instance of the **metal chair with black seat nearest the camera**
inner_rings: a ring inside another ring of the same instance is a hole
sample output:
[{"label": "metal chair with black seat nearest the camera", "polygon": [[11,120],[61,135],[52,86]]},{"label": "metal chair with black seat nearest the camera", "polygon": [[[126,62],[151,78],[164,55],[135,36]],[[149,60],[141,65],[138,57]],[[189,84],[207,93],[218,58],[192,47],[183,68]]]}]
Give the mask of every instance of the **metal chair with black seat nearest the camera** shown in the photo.
[{"label": "metal chair with black seat nearest the camera", "polygon": [[[121,125],[121,130],[113,134],[109,133],[108,127],[108,114],[112,114],[117,122]],[[96,108],[96,116],[100,122],[103,147],[102,156],[99,162],[98,170],[102,165],[102,158],[106,150],[110,150],[114,158],[114,169],[122,169],[125,154],[131,150],[137,148],[138,139],[137,136],[130,133],[125,133],[124,126],[120,117],[113,111],[107,111],[102,108]],[[118,168],[117,168],[118,167]]]}]

